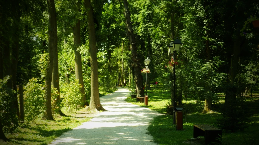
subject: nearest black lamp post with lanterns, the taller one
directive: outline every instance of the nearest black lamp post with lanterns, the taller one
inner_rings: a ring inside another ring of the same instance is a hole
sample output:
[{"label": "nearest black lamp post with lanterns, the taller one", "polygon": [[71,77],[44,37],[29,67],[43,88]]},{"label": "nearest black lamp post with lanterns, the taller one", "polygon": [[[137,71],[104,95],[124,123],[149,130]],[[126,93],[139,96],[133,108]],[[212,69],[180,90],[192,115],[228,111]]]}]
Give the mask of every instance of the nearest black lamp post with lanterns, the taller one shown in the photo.
[{"label": "nearest black lamp post with lanterns, the taller one", "polygon": [[[181,40],[176,38],[176,40],[172,41],[168,45],[169,53],[173,54],[173,59],[175,59],[175,53],[176,51],[180,51],[182,47],[182,42]],[[174,63],[174,100],[173,100],[173,106],[174,106],[174,111],[173,111],[173,124],[176,124],[176,66]]]}]

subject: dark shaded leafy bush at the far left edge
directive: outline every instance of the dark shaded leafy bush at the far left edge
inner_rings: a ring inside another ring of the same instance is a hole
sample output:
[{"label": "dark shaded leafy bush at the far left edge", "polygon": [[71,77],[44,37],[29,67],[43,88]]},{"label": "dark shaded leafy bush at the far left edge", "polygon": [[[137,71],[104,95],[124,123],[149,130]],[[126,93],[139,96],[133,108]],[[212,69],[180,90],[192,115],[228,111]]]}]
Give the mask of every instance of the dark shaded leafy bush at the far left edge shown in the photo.
[{"label": "dark shaded leafy bush at the far left edge", "polygon": [[18,126],[16,108],[13,107],[15,98],[12,89],[7,87],[10,76],[0,79],[0,120],[5,133],[13,133]]}]

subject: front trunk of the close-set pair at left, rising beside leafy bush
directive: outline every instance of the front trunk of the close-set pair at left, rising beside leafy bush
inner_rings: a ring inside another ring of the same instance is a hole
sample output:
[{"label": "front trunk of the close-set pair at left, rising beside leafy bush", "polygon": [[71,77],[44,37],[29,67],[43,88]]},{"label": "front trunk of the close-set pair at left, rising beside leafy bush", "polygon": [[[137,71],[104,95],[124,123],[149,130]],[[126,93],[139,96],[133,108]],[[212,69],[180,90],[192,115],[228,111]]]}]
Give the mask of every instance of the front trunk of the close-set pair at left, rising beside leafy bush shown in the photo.
[{"label": "front trunk of the close-set pair at left, rising beside leafy bush", "polygon": [[56,8],[54,0],[48,0],[49,28],[48,28],[48,64],[45,77],[45,105],[46,111],[44,118],[54,120],[51,111],[51,80],[53,72],[53,51],[57,48],[57,21]]}]

